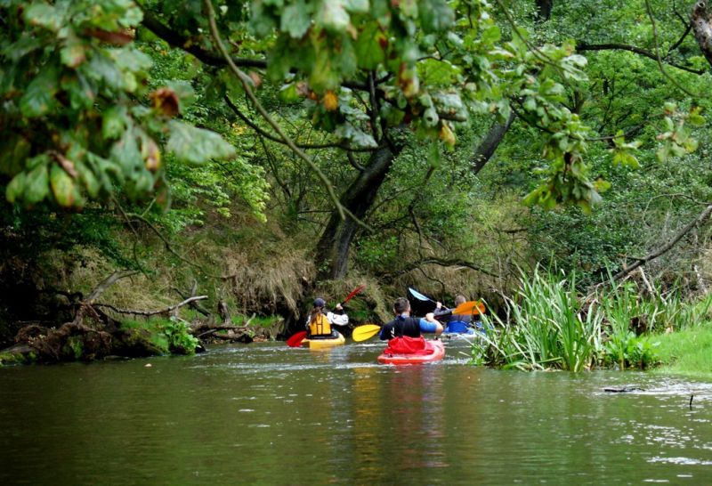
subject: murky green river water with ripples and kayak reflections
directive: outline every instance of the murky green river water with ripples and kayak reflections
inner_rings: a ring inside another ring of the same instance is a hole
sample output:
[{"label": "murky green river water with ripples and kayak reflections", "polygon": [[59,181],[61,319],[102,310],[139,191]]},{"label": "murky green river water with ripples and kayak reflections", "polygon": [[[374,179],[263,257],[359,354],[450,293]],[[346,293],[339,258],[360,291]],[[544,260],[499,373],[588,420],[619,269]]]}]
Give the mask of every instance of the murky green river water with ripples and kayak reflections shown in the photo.
[{"label": "murky green river water with ripples and kayak reflections", "polygon": [[393,367],[383,347],[0,369],[0,484],[712,483],[710,383],[481,369],[456,342]]}]

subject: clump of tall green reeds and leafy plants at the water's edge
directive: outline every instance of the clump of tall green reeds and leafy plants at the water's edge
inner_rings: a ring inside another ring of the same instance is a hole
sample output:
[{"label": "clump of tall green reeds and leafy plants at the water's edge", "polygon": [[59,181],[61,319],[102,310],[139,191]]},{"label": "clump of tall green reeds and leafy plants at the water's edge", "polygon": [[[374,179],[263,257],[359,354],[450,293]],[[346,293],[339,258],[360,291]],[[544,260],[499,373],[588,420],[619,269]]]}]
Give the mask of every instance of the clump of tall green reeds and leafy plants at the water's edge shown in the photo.
[{"label": "clump of tall green reeds and leafy plants at the water's edge", "polygon": [[[598,304],[584,307],[573,276],[556,279],[535,271],[522,278],[517,296],[507,299],[507,320],[484,316],[498,324],[473,346],[473,362],[503,368],[570,371],[594,366],[646,369],[658,362],[647,330],[635,333],[644,315],[632,285],[603,291]],[[655,317],[651,316],[651,320]]]}]

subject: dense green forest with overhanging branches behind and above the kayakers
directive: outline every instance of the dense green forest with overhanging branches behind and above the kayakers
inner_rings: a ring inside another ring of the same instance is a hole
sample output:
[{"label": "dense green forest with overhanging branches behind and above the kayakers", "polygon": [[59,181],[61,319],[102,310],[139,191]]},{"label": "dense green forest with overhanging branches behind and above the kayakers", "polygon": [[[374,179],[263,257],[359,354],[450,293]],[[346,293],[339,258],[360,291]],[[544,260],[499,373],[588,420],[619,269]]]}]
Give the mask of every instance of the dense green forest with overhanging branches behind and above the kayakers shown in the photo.
[{"label": "dense green forest with overhanging branches behind and above the kayakers", "polygon": [[0,347],[203,295],[181,319],[267,336],[361,284],[356,321],[409,286],[498,312],[541,267],[708,293],[705,2],[3,0],[0,23]]}]

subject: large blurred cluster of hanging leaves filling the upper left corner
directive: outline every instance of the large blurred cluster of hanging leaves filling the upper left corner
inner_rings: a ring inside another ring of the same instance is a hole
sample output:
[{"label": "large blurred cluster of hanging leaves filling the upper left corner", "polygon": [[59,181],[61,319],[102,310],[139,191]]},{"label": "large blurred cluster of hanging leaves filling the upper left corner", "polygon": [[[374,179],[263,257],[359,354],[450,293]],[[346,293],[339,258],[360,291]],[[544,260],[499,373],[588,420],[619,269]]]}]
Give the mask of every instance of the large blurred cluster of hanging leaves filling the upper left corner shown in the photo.
[{"label": "large blurred cluster of hanging leaves filling the upper left corner", "polygon": [[189,86],[146,92],[151,61],[133,42],[142,20],[133,2],[12,1],[0,14],[8,22],[0,171],[10,178],[9,202],[81,208],[115,187],[166,202],[159,145],[189,163],[234,155],[217,134],[176,118]]}]

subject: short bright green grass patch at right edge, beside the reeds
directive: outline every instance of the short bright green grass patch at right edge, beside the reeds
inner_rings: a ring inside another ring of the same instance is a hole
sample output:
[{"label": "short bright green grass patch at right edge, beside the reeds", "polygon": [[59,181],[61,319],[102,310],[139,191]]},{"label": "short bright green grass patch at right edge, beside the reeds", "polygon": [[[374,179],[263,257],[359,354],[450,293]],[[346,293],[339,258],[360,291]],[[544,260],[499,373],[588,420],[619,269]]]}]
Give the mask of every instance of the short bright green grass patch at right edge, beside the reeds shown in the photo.
[{"label": "short bright green grass patch at right edge, beside the reeds", "polygon": [[659,373],[712,377],[712,321],[670,334],[651,336],[658,342]]}]

